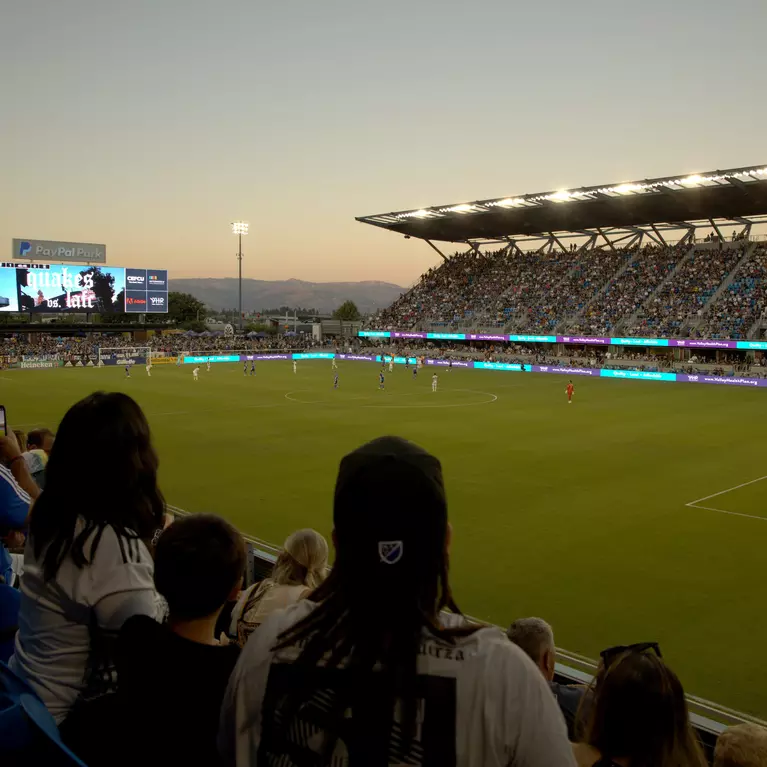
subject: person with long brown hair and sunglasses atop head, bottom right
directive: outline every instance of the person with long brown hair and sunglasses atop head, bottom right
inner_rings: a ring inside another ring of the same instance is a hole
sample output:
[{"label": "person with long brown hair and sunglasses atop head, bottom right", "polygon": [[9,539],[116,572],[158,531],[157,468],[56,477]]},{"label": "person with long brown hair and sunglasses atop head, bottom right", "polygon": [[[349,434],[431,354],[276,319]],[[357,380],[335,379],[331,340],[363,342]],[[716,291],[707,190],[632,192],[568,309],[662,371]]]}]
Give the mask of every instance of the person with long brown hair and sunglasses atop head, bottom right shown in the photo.
[{"label": "person with long brown hair and sunglasses atop head, bottom right", "polygon": [[602,653],[579,767],[706,767],[682,683],[653,642]]}]

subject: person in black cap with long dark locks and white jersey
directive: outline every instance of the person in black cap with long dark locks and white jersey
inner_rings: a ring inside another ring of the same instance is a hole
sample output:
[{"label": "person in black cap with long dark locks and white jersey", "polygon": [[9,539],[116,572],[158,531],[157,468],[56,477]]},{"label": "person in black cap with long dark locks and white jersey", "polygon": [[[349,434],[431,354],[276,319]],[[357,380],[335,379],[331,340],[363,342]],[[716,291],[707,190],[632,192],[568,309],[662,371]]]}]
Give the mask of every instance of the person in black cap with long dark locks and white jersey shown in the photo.
[{"label": "person in black cap with long dark locks and white jersey", "polygon": [[341,462],[333,522],[327,580],[267,618],[232,674],[226,763],[572,765],[532,661],[453,600],[439,461],[395,437],[363,445]]}]

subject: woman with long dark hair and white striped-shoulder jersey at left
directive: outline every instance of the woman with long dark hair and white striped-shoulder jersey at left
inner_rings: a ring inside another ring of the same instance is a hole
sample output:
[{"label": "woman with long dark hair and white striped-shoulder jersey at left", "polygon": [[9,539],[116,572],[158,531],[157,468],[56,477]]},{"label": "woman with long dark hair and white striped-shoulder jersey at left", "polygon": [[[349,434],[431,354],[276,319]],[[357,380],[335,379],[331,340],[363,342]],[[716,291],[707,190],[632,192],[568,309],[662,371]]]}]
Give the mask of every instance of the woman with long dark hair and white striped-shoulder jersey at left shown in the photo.
[{"label": "woman with long dark hair and white striped-shoulder jersey at left", "polygon": [[165,510],[157,465],[138,404],[91,394],[64,416],[30,514],[12,666],[74,741],[88,703],[114,691],[120,627],[158,613],[147,548]]}]

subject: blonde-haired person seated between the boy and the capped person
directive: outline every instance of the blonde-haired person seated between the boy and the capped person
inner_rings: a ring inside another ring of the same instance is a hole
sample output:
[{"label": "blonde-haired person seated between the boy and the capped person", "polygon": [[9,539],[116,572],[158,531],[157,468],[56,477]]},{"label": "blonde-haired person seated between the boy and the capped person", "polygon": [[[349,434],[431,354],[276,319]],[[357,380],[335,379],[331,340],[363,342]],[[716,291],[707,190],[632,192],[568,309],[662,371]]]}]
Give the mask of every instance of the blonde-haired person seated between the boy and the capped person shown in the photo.
[{"label": "blonde-haired person seated between the boy and the capped person", "polygon": [[266,617],[311,594],[325,580],[328,542],[310,528],[288,536],[272,574],[240,594],[232,610],[229,634],[240,647]]}]

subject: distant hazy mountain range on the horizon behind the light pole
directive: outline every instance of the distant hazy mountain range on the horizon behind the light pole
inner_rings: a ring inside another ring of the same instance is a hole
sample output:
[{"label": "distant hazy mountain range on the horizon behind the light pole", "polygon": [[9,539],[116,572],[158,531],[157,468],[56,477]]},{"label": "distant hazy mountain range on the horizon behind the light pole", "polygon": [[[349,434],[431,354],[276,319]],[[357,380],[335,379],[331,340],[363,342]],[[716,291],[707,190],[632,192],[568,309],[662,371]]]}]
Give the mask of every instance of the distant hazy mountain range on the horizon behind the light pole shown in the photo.
[{"label": "distant hazy mountain range on the horizon behind the light pole", "polygon": [[[210,309],[237,308],[237,280],[171,279],[169,287],[191,293]],[[344,301],[357,304],[362,313],[388,306],[405,288],[390,282],[304,282],[303,280],[243,280],[243,311],[261,311],[275,306],[297,306],[332,312]]]}]

